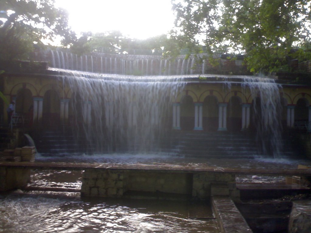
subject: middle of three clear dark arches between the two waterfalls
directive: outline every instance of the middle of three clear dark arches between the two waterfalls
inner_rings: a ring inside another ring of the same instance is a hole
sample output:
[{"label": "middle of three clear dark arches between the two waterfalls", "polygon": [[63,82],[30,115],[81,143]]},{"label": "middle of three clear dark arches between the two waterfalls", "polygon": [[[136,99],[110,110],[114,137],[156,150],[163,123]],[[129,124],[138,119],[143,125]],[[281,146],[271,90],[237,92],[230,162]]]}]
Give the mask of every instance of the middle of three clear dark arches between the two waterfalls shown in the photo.
[{"label": "middle of three clear dark arches between the two waterfalls", "polygon": [[203,101],[203,130],[218,129],[218,100],[216,96],[208,95]]}]

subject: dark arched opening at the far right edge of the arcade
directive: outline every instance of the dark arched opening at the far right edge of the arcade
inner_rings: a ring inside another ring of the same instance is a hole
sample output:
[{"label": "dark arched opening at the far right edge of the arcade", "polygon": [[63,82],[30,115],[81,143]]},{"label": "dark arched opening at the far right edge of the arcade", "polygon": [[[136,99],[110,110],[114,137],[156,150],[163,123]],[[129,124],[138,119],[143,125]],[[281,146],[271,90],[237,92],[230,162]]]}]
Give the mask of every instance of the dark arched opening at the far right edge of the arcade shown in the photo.
[{"label": "dark arched opening at the far right edge of the arcade", "polygon": [[298,99],[295,106],[295,127],[307,129],[309,123],[309,101],[305,98]]}]

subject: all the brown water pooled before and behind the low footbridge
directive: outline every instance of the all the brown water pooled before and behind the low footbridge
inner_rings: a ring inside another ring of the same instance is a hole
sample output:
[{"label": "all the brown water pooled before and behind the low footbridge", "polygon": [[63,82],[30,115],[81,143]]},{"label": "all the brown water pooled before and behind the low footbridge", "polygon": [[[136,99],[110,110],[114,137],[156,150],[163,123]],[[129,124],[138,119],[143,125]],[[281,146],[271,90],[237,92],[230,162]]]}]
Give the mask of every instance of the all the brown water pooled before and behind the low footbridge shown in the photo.
[{"label": "all the brown water pooled before and behind the low footbridge", "polygon": [[[174,164],[175,166],[213,166],[290,170],[305,160],[287,159],[207,159],[171,154],[68,154],[36,155],[36,161],[97,162],[118,164]],[[81,171],[32,171],[29,186],[58,187],[72,192],[16,190],[0,196],[0,232],[207,232],[219,229],[209,202],[136,199],[81,199]],[[249,182],[251,176],[239,176]],[[257,177],[253,182],[284,183],[284,177]]]}]

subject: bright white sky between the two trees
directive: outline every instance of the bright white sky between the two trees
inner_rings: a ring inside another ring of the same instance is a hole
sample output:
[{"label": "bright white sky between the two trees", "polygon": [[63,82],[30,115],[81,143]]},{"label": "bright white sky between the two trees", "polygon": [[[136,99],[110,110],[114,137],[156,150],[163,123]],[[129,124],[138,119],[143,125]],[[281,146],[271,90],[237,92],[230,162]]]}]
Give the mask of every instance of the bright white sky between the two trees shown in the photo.
[{"label": "bright white sky between the two trees", "polygon": [[69,12],[69,25],[77,34],[119,30],[147,39],[166,34],[174,25],[170,0],[56,0],[55,6]]}]

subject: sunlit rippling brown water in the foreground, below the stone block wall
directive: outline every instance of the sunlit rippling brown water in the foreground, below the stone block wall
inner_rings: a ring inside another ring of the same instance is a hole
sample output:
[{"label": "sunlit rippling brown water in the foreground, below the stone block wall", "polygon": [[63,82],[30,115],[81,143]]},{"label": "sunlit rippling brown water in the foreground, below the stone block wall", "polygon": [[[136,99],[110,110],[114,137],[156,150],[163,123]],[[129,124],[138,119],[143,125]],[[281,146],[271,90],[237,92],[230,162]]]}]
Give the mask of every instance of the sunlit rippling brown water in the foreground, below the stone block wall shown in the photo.
[{"label": "sunlit rippling brown water in the foreground, below the stone block wall", "polygon": [[15,193],[0,197],[0,232],[218,232],[213,219],[188,218],[193,205]]}]

